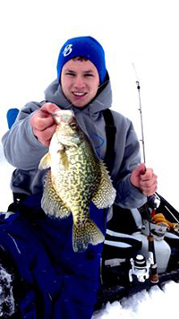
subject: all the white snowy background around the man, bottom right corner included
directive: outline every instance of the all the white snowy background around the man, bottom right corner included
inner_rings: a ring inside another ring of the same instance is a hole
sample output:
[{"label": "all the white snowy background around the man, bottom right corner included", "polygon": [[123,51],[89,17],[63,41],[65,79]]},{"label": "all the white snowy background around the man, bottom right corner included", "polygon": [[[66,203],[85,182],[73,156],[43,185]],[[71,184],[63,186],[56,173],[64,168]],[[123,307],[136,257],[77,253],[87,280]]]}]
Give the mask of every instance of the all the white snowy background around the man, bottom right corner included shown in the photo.
[{"label": "all the white snowy background around the man, bottom right corner included", "polygon": [[[11,7],[11,10],[10,10]],[[59,48],[66,39],[91,35],[105,47],[114,89],[114,109],[132,119],[141,138],[135,65],[141,83],[141,106],[147,166],[158,175],[158,193],[179,211],[178,82],[179,21],[177,0],[6,0],[0,4],[1,118],[7,130],[8,108],[42,100],[55,79]],[[12,202],[13,167],[0,146],[0,211]],[[93,319],[151,318],[177,315],[179,284],[107,304]]]}]

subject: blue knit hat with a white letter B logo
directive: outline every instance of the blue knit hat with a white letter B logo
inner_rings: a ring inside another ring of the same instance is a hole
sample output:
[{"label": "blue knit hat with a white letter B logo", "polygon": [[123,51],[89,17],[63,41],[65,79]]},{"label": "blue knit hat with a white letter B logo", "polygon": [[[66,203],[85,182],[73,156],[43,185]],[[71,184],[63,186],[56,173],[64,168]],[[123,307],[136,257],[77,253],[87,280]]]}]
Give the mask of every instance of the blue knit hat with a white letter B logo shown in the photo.
[{"label": "blue knit hat with a white letter B logo", "polygon": [[100,84],[105,81],[107,69],[103,47],[92,37],[77,37],[68,39],[60,50],[57,62],[58,82],[60,82],[64,64],[76,56],[83,56],[90,60],[98,70]]}]

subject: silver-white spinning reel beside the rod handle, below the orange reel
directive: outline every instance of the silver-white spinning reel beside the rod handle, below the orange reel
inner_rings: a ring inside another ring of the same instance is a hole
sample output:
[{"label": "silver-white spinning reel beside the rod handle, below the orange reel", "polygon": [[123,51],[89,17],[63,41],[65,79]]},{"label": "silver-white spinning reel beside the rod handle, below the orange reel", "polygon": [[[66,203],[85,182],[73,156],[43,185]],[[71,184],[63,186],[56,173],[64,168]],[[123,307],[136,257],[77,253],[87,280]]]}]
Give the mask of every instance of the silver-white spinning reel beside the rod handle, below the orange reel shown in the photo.
[{"label": "silver-white spinning reel beside the rod handle, below the orange reel", "polygon": [[133,277],[137,278],[139,282],[145,282],[149,279],[149,270],[151,264],[153,264],[153,258],[149,255],[149,258],[145,258],[142,254],[137,254],[134,258],[130,259],[132,269],[129,271],[129,280],[133,281]]}]

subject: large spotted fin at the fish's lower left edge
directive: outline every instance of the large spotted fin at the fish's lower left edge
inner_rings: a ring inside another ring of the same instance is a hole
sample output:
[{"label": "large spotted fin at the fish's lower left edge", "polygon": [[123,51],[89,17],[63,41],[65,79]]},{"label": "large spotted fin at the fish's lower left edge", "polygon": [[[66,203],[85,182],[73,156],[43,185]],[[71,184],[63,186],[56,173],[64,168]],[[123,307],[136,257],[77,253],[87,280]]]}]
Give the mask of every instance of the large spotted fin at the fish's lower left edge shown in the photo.
[{"label": "large spotted fin at the fish's lower left edge", "polygon": [[71,214],[71,211],[64,205],[62,199],[56,193],[51,180],[51,171],[47,172],[45,178],[44,192],[41,200],[42,210],[47,215],[63,219]]}]

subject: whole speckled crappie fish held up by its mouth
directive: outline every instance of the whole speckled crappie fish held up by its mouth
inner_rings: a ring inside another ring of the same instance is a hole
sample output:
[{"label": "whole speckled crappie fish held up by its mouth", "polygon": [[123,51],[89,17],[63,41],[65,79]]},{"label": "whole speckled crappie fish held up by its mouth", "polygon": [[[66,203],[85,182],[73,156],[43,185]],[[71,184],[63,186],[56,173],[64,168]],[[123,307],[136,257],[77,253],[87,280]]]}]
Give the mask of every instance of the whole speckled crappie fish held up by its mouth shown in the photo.
[{"label": "whole speckled crappie fish held up by its mouth", "polygon": [[83,252],[89,244],[98,245],[105,237],[90,220],[90,201],[99,209],[115,201],[115,188],[102,160],[98,160],[89,139],[77,124],[72,110],[53,115],[55,134],[49,152],[39,163],[47,172],[41,206],[47,215],[68,217],[72,213],[72,246]]}]

